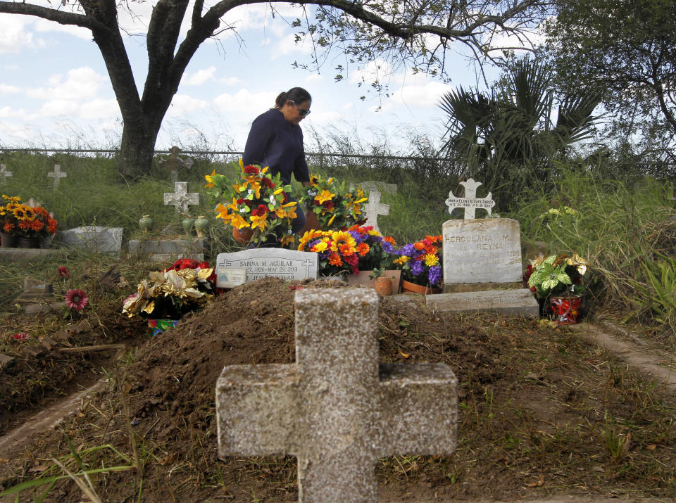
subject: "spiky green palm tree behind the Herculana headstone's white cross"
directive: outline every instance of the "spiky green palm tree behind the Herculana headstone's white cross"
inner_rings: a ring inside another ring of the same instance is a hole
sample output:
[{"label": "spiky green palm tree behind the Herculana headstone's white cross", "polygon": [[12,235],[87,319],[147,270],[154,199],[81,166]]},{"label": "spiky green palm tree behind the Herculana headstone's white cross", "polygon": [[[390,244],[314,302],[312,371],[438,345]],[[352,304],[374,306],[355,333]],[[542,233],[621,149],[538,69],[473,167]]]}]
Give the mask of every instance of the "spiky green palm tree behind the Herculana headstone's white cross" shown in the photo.
[{"label": "spiky green palm tree behind the Herculana headstone's white cross", "polygon": [[448,116],[442,152],[464,163],[465,176],[480,179],[487,191],[499,189],[503,203],[536,181],[551,182],[552,161],[594,135],[601,95],[582,89],[558,99],[550,80],[546,66],[524,58],[492,91],[458,87],[439,103]]}]

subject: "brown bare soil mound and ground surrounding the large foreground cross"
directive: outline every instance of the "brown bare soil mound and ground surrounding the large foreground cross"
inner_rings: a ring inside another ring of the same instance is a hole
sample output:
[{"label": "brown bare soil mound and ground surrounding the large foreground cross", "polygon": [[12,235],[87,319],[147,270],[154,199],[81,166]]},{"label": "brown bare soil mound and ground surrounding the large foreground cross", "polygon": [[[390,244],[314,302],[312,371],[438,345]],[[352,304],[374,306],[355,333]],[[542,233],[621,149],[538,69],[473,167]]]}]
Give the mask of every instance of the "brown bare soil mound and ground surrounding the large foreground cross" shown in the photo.
[{"label": "brown bare soil mound and ground surrounding the large foreground cross", "polygon": [[[349,288],[264,279],[220,295],[154,338],[138,338],[129,326],[128,334],[111,336],[137,350],[108,364],[108,388],[55,430],[23,452],[0,452],[0,491],[62,475],[56,457],[75,472],[128,466],[89,476],[103,501],[294,501],[293,457],[217,459],[214,386],[224,365],[293,362],[299,286]],[[489,314],[437,314],[384,298],[380,359],[443,362],[459,383],[458,450],[381,459],[383,500],[669,501],[676,494],[673,393],[573,331]],[[41,402],[30,403],[24,412]],[[82,499],[68,478],[23,497],[47,489],[46,501]]]}]

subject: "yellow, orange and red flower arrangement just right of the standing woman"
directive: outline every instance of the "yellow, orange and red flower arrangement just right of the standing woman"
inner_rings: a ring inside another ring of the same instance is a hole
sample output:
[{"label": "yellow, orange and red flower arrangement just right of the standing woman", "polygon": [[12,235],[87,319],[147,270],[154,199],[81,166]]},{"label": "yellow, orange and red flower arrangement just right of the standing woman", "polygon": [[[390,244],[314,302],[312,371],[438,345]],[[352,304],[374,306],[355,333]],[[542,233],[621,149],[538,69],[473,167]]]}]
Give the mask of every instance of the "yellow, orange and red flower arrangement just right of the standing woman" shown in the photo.
[{"label": "yellow, orange and red flower arrangement just right of the standing woman", "polygon": [[338,184],[333,177],[324,180],[313,174],[310,186],[303,187],[302,191],[301,203],[308,212],[317,215],[322,229],[344,230],[365,222],[361,210],[368,197],[359,187],[349,190],[344,182]]}]

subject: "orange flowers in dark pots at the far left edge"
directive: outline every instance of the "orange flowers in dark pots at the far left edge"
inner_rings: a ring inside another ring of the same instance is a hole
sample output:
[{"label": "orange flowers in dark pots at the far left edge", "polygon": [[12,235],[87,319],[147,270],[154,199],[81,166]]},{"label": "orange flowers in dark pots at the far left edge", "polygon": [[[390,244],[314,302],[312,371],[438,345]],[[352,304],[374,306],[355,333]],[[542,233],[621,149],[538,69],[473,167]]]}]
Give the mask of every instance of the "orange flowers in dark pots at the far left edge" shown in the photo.
[{"label": "orange flowers in dark pots at the far left edge", "polygon": [[44,238],[56,234],[58,222],[47,210],[22,204],[18,196],[2,195],[6,203],[0,206],[0,232],[6,236]]}]

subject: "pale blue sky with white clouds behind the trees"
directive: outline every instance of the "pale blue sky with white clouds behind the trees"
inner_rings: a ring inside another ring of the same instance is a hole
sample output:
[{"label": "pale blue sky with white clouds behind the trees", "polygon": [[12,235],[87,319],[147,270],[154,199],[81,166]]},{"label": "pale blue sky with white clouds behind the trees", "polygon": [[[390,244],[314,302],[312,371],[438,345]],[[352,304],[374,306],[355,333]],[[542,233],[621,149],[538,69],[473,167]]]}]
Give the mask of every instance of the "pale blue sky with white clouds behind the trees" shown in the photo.
[{"label": "pale blue sky with white clouds behind the trees", "polygon": [[[139,89],[147,65],[142,34],[152,4],[134,4],[133,17],[120,11]],[[292,6],[276,8],[289,20],[297,15]],[[311,61],[313,46],[294,44],[293,28],[279,15],[273,19],[268,4],[235,8],[226,20],[237,27],[237,35],[228,30],[197,50],[156,149],[177,144],[184,150],[241,151],[253,119],[272,108],[281,91],[299,86],[313,97],[311,114],[301,122],[306,150],[311,150],[315,132],[323,141],[338,136],[357,147],[385,144],[393,153],[411,153],[416,134],[440,142],[444,113],[437,103],[442,94],[480,82],[475,65],[453,55],[450,84],[401,70],[389,77],[389,96],[373,96],[365,92],[368,86],[358,86],[362,77],[368,82],[368,70],[351,69],[341,82],[334,81],[334,67],[344,63],[340,54],[319,69],[293,68],[294,61]],[[387,70],[387,63],[382,68]],[[498,72],[489,69],[487,75],[494,78]],[[0,147],[114,148],[121,132],[118,104],[89,30],[0,13]]]}]

